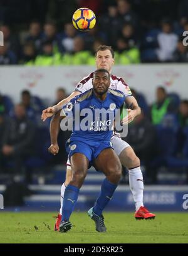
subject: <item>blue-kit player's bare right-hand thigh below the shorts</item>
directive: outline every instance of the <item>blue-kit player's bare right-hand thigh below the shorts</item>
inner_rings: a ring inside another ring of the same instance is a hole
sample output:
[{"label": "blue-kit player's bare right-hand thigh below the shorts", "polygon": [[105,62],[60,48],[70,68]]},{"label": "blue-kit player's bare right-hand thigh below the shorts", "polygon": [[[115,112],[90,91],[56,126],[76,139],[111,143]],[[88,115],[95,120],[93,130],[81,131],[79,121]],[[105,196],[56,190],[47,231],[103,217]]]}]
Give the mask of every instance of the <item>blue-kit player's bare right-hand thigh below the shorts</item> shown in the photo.
[{"label": "blue-kit player's bare right-hand thigh below the shorts", "polygon": [[97,169],[101,170],[106,175],[116,173],[122,173],[122,165],[120,163],[120,159],[117,154],[113,151],[113,149],[103,149],[102,152],[95,159],[95,165]]}]

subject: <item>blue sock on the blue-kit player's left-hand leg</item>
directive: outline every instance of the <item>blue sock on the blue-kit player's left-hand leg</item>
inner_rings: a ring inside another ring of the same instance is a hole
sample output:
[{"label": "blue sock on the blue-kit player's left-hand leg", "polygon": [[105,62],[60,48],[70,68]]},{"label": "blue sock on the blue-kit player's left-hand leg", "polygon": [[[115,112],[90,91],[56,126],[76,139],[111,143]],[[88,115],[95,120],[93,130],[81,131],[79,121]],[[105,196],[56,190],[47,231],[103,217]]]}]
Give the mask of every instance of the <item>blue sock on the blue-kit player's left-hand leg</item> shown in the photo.
[{"label": "blue sock on the blue-kit player's left-hand leg", "polygon": [[73,212],[80,189],[76,186],[68,185],[65,189],[63,200],[63,211],[61,221],[68,221]]}]

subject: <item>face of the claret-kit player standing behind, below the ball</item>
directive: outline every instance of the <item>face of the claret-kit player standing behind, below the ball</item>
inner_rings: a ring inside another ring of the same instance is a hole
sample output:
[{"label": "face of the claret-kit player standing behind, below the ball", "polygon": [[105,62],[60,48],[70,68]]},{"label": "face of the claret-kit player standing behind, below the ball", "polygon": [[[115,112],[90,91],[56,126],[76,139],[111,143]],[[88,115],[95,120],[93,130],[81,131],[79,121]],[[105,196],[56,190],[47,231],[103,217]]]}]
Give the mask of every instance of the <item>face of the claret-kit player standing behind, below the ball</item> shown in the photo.
[{"label": "face of the claret-kit player standing behind, below the ball", "polygon": [[114,59],[112,58],[112,53],[110,50],[97,52],[97,56],[96,56],[97,69],[105,68],[105,70],[108,70],[108,72],[111,73],[113,64],[114,64]]}]

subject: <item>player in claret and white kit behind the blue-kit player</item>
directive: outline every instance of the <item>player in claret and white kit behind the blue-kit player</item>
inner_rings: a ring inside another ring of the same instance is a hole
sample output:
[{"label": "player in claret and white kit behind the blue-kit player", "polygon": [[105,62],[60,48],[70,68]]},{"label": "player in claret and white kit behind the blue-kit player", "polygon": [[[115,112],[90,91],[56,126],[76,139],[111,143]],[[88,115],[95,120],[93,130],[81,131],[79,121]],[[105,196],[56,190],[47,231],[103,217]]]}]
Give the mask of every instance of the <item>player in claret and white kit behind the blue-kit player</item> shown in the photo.
[{"label": "player in claret and white kit behind the blue-kit player", "polygon": [[[112,75],[113,64],[114,51],[111,46],[100,46],[96,52],[97,68],[105,68],[106,70],[108,70],[108,72],[111,74],[110,88],[112,90],[120,90],[125,94],[125,103],[128,105],[128,116],[125,117],[124,121],[129,123],[132,122],[132,120],[140,114],[140,107],[138,107],[137,100],[135,100],[135,98],[132,96],[132,93],[127,83],[125,83],[122,78]],[[92,78],[93,73],[90,73],[87,77],[83,78],[83,80],[81,80],[78,85],[76,85],[74,92],[71,93],[69,97],[62,100],[53,107],[48,107],[48,109],[44,109],[41,118],[43,120],[46,120],[48,117],[51,117],[56,112],[58,112],[58,110],[61,109],[62,105],[70,102],[73,97],[92,88]],[[53,122],[53,120],[51,122]],[[111,142],[115,152],[120,158],[122,165],[128,169],[130,189],[132,191],[133,199],[135,201],[135,218],[139,220],[155,218],[155,215],[153,213],[150,213],[147,208],[145,208],[143,203],[144,180],[142,176],[142,171],[140,169],[140,159],[138,159],[132,147],[120,138],[119,134],[113,133]],[[51,148],[53,149],[54,154],[58,153],[59,149],[57,145],[51,145]],[[61,208],[58,218],[56,219],[55,230],[58,230],[60,225],[63,207],[63,195],[65,188],[69,184],[70,180],[71,166],[70,162],[68,161],[66,169],[66,180],[65,183],[63,183],[63,185],[61,186]]]}]

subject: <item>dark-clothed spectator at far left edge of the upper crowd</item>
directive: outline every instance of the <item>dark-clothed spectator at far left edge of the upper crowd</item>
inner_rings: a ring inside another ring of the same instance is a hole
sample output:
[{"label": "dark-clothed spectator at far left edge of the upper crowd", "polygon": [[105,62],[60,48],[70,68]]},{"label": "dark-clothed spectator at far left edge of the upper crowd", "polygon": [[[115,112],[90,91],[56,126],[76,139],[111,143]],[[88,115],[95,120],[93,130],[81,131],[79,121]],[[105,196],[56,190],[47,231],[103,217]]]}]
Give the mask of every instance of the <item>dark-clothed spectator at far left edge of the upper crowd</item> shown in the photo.
[{"label": "dark-clothed spectator at far left edge of the upper crowd", "polygon": [[13,35],[11,29],[6,24],[0,26],[0,31],[3,32],[4,44],[6,44],[8,50],[14,53],[16,58],[19,58],[21,54],[21,45],[18,36]]}]

